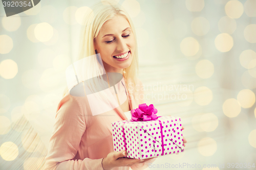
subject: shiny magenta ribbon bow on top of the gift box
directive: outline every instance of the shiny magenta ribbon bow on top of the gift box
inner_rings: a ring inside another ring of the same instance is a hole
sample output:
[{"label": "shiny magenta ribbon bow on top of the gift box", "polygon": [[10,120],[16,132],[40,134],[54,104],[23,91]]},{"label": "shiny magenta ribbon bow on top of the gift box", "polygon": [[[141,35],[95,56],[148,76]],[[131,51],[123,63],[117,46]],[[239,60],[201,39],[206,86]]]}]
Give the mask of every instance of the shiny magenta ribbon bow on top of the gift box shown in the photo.
[{"label": "shiny magenta ribbon bow on top of the gift box", "polygon": [[156,115],[157,109],[154,107],[153,104],[147,106],[145,103],[139,105],[139,108],[133,109],[131,111],[132,119],[134,121],[148,121],[148,120],[155,120],[158,118]]}]

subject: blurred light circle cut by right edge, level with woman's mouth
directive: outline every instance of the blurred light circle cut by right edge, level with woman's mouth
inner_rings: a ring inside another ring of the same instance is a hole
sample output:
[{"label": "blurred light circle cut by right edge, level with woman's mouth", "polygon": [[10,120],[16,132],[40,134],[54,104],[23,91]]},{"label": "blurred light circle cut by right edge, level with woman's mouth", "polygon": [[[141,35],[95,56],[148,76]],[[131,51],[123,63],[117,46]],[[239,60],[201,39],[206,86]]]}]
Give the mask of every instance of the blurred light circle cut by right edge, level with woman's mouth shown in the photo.
[{"label": "blurred light circle cut by right edge, level with woman's mouth", "polygon": [[250,69],[255,65],[253,60],[256,59],[256,53],[253,50],[245,50],[240,55],[240,63],[243,67]]}]

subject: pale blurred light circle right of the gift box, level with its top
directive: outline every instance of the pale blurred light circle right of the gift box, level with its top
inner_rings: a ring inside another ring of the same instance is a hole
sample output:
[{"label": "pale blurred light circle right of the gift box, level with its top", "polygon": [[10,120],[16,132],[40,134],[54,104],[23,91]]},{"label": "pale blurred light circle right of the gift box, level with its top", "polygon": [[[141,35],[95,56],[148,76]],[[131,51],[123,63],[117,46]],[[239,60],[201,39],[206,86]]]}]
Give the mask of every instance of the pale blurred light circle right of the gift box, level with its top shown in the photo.
[{"label": "pale blurred light circle right of the gift box, level with its top", "polygon": [[213,113],[204,113],[200,117],[200,126],[205,132],[214,131],[219,125],[218,117]]}]

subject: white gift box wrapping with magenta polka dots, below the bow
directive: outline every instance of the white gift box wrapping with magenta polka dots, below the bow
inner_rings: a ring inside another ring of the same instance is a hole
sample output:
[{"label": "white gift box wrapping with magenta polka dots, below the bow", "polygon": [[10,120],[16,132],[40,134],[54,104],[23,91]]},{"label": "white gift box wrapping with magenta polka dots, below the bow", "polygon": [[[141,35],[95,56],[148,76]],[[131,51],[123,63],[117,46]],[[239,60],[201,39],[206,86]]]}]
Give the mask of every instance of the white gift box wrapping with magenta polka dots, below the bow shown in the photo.
[{"label": "white gift box wrapping with magenta polka dots, below the bow", "polygon": [[113,122],[114,151],[126,150],[125,157],[136,159],[179,154],[184,152],[181,126],[181,118],[177,116],[160,116],[151,121]]}]

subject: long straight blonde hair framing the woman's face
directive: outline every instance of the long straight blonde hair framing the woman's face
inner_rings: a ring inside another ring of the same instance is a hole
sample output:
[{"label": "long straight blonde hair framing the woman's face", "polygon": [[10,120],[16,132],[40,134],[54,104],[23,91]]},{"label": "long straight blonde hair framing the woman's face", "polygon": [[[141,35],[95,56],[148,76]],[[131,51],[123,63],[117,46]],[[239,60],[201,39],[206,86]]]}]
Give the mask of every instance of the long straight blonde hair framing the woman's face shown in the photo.
[{"label": "long straight blonde hair framing the woman's face", "polygon": [[[105,5],[107,4],[107,5]],[[95,38],[98,36],[100,29],[102,27],[102,25],[114,18],[116,15],[121,15],[123,16],[130,24],[132,32],[134,34],[134,38],[135,38],[135,53],[133,56],[133,61],[131,63],[131,65],[127,68],[124,68],[124,72],[123,72],[123,77],[126,81],[126,84],[129,84],[129,86],[131,87],[131,85],[133,87],[135,87],[135,85],[138,83],[138,48],[137,48],[137,39],[136,39],[136,33],[135,33],[135,28],[133,25],[133,22],[129,16],[129,14],[127,14],[127,12],[120,6],[120,5],[113,5],[109,2],[104,2],[103,3],[98,3],[95,4],[92,7],[92,11],[88,10],[87,13],[84,15],[84,19],[83,19],[83,26],[81,29],[81,37],[80,37],[80,44],[79,44],[79,55],[78,55],[78,60],[81,60],[85,57],[89,57],[89,56],[93,56],[93,55],[97,55],[94,49],[94,40]],[[91,71],[87,71],[87,72],[83,72],[82,74],[87,74],[87,79],[88,78],[93,78],[99,75],[102,75],[104,73],[104,70],[102,69],[102,67],[100,67],[99,65],[99,61],[97,60],[96,57],[94,58],[88,58],[90,61],[89,65]],[[88,75],[91,74],[91,75]],[[77,75],[78,76],[78,75]],[[79,82],[80,80],[84,80],[84,76],[79,78]],[[134,88],[136,89],[136,88]],[[68,89],[66,88],[63,96],[68,92]]]}]

